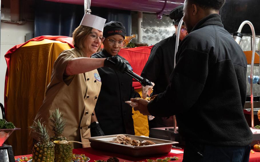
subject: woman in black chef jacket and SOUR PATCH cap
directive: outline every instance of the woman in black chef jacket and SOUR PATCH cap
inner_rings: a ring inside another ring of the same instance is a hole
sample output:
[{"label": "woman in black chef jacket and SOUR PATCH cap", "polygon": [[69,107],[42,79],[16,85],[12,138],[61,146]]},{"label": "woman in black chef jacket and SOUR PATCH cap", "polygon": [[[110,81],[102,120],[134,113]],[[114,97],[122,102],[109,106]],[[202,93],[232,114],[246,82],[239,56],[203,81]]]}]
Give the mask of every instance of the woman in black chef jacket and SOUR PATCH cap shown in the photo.
[{"label": "woman in black chef jacket and SOUR PATCH cap", "polygon": [[[105,37],[104,49],[93,54],[91,58],[119,56],[118,52],[125,44],[123,24],[117,21],[106,23],[103,37]],[[124,58],[123,60],[128,69],[133,70],[129,62]],[[91,123],[90,127],[93,128],[92,130],[95,128],[101,128],[101,130],[91,131],[91,137],[122,133],[135,135],[132,108],[125,103],[130,98],[140,97],[132,87],[132,78],[111,68],[102,67],[97,70],[102,80],[101,91],[95,107],[98,122]]]}]

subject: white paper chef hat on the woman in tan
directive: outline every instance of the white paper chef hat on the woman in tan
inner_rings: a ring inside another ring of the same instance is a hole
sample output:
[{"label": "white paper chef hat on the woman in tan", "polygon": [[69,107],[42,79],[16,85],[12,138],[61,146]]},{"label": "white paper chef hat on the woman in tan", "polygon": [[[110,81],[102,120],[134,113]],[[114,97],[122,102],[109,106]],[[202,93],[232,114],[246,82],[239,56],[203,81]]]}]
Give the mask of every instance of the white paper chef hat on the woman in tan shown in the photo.
[{"label": "white paper chef hat on the woman in tan", "polygon": [[102,17],[98,17],[96,15],[86,14],[83,16],[83,19],[81,20],[80,25],[84,25],[87,27],[95,28],[99,31],[103,32],[103,27],[106,22],[106,19],[103,19]]}]

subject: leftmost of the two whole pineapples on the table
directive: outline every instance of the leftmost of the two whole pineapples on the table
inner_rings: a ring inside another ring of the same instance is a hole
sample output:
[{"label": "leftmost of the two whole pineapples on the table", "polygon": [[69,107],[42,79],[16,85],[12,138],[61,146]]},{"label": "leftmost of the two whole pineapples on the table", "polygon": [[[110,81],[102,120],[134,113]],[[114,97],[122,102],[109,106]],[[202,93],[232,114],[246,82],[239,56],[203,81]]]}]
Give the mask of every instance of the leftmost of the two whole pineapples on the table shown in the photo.
[{"label": "leftmost of the two whole pineapples on the table", "polygon": [[38,120],[33,121],[34,125],[30,128],[39,137],[39,141],[34,144],[33,152],[33,162],[45,161],[53,162],[54,161],[54,143],[49,140],[48,130],[46,126],[41,125],[41,122]]}]

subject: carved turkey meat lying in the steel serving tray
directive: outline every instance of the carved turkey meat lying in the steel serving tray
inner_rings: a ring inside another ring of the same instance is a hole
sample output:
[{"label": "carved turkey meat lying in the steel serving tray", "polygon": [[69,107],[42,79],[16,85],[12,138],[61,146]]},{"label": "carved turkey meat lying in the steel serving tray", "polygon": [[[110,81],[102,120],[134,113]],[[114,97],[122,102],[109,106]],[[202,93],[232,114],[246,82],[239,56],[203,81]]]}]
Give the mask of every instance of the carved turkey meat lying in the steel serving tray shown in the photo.
[{"label": "carved turkey meat lying in the steel serving tray", "polygon": [[126,137],[123,134],[117,135],[117,138],[115,141],[109,141],[113,143],[118,143],[118,144],[123,144],[123,145],[131,145],[131,146],[145,146],[145,145],[153,145],[155,144],[153,141],[149,140],[144,140],[144,141],[139,141],[135,139],[131,139],[130,137]]}]

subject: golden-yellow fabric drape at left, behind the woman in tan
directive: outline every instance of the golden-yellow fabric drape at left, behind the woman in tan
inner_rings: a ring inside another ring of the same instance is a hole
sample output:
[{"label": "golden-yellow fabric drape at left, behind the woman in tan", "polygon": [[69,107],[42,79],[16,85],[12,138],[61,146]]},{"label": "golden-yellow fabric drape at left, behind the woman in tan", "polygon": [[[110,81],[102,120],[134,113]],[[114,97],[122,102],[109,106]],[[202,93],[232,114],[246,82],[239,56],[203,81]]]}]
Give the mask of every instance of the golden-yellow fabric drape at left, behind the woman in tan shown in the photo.
[{"label": "golden-yellow fabric drape at left, behind the woman in tan", "polygon": [[13,132],[6,143],[13,146],[15,155],[31,154],[28,127],[43,102],[54,61],[63,50],[70,48],[67,43],[44,39],[31,41],[11,54],[6,119],[21,130]]}]

